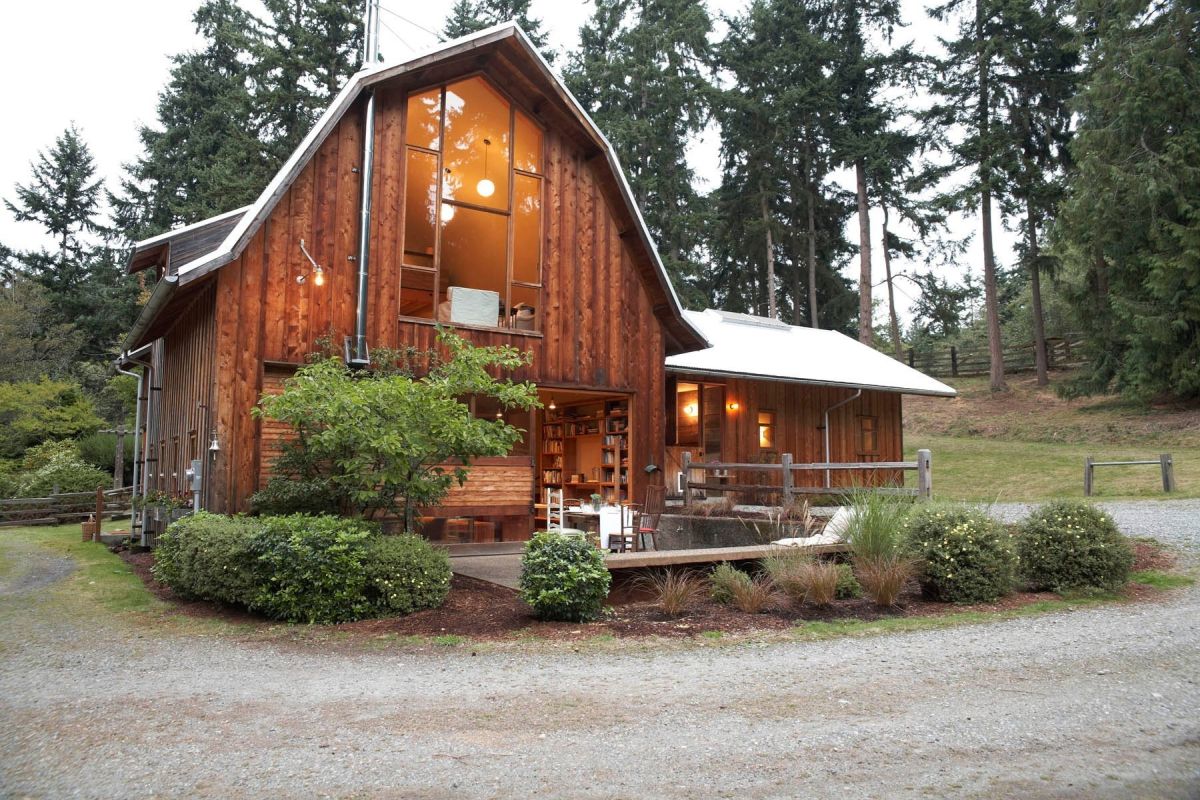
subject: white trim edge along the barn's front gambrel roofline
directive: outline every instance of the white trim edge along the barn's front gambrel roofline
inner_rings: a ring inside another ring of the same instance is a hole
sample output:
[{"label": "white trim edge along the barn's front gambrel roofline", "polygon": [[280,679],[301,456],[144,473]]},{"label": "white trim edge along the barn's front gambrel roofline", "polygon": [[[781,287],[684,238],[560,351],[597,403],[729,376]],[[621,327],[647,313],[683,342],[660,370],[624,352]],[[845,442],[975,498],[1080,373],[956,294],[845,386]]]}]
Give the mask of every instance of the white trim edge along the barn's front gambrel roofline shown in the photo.
[{"label": "white trim edge along the barn's front gambrel roofline", "polygon": [[[596,127],[595,121],[587,113],[587,109],[583,108],[583,104],[580,103],[578,98],[575,97],[574,94],[571,94],[571,90],[568,89],[566,84],[564,84],[562,79],[554,74],[553,70],[551,70],[550,67],[550,64],[546,62],[546,59],[542,58],[541,53],[538,52],[538,48],[534,47],[533,42],[529,41],[529,37],[526,35],[526,32],[521,30],[521,26],[511,20],[492,25],[491,28],[486,28],[475,34],[462,36],[460,38],[451,40],[449,42],[439,42],[436,47],[426,48],[425,50],[416,53],[415,55],[413,55],[412,58],[401,64],[394,64],[390,66],[379,65],[376,67],[360,70],[359,72],[354,73],[354,76],[350,77],[350,80],[348,80],[347,84],[342,86],[342,90],[337,94],[334,101],[329,104],[325,112],[317,120],[317,124],[313,125],[311,131],[308,131],[308,134],[301,140],[300,146],[298,146],[292,152],[292,156],[287,160],[287,162],[284,162],[283,167],[280,168],[280,170],[275,174],[275,178],[271,179],[271,182],[266,185],[266,188],[263,190],[263,193],[259,194],[258,199],[253,204],[239,210],[248,212],[245,213],[245,216],[234,227],[234,229],[229,231],[224,241],[221,242],[221,246],[216,251],[212,251],[197,259],[193,259],[186,264],[180,265],[178,275],[180,277],[185,277],[188,272],[193,270],[210,265],[216,265],[220,263],[226,263],[238,257],[238,254],[245,248],[246,243],[248,243],[250,237],[247,233],[252,229],[257,229],[258,225],[265,221],[266,216],[274,209],[275,201],[280,197],[282,197],[283,192],[286,191],[286,187],[289,186],[292,181],[295,179],[295,176],[299,174],[301,166],[308,161],[311,155],[316,151],[317,146],[325,139],[326,136],[329,136],[329,133],[336,125],[337,120],[342,118],[342,115],[346,113],[346,109],[349,108],[349,106],[354,102],[354,100],[358,98],[359,92],[366,85],[386,80],[388,78],[403,74],[404,72],[410,72],[413,68],[415,68],[418,62],[428,59],[432,55],[440,54],[455,48],[469,49],[464,46],[480,46],[485,43],[491,43],[493,38],[499,38],[497,36],[498,34],[506,34],[509,30],[514,31],[516,36],[526,44],[529,52],[534,54],[534,56],[538,60],[538,64],[541,66],[542,72],[550,79],[551,85],[554,86],[556,91],[558,91],[562,95],[563,100],[565,100],[566,103],[575,109],[580,120],[601,143],[608,166],[617,175],[617,185],[618,188],[620,190],[622,197],[624,198],[625,204],[632,210],[634,223],[637,227],[638,235],[641,236],[643,245],[649,251],[652,260],[654,261],[654,266],[655,269],[658,269],[660,276],[662,277],[662,282],[666,284],[667,291],[671,296],[671,302],[674,303],[676,311],[678,312],[677,317],[686,327],[691,329],[691,331],[696,335],[696,337],[700,341],[708,343],[708,339],[704,337],[703,332],[698,327],[696,327],[696,325],[692,324],[690,319],[688,319],[686,314],[683,313],[684,312],[683,303],[679,301],[679,295],[676,291],[674,284],[671,282],[671,276],[667,275],[666,265],[662,264],[662,259],[659,255],[658,247],[654,245],[654,240],[649,235],[649,229],[646,227],[646,219],[644,217],[642,217],[642,210],[637,207],[637,203],[634,200],[634,192],[629,187],[629,181],[625,179],[625,173],[620,167],[620,162],[617,158],[617,152],[613,149],[612,143],[608,142],[608,138],[600,131],[599,127]],[[234,212],[230,211],[229,213],[232,215]],[[210,218],[208,222],[211,222],[211,219],[212,218]],[[175,233],[178,233],[178,230]]]}]

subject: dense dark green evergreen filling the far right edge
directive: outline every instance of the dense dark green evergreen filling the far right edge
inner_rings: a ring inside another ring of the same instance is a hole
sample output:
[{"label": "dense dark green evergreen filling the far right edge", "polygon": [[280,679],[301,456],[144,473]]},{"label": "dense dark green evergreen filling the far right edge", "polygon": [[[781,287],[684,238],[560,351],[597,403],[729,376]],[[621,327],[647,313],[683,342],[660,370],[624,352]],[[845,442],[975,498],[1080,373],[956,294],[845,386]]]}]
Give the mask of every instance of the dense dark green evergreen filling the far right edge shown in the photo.
[{"label": "dense dark green evergreen filling the far right edge", "polygon": [[1074,389],[1200,397],[1200,10],[1076,13],[1086,77],[1056,230],[1091,355]]}]

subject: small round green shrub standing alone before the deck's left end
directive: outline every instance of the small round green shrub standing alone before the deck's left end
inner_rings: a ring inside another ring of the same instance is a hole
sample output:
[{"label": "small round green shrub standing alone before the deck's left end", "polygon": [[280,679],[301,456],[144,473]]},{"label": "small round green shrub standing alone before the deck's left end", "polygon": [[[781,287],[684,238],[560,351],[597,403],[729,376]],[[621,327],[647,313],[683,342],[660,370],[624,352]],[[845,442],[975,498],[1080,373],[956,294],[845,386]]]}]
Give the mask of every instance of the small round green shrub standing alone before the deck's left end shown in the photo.
[{"label": "small round green shrub standing alone before the deck's left end", "polygon": [[521,600],[538,619],[582,622],[604,610],[612,576],[604,554],[578,536],[541,533],[521,558]]}]

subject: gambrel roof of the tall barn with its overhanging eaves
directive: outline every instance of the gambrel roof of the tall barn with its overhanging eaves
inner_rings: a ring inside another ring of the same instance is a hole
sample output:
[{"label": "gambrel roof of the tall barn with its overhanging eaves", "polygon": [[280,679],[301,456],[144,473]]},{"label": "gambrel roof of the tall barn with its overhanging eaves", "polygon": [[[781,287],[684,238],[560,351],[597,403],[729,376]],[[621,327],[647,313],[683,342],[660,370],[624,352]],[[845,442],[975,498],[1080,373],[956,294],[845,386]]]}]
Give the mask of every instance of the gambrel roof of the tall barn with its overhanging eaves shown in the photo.
[{"label": "gambrel roof of the tall barn with its overhanging eaves", "polygon": [[[613,150],[612,144],[596,127],[595,122],[588,115],[587,110],[578,102],[578,100],[576,100],[565,84],[563,84],[563,82],[551,71],[550,65],[547,65],[546,60],[540,53],[538,53],[538,49],[529,41],[528,36],[526,36],[524,31],[522,31],[521,28],[514,22],[493,25],[492,28],[487,28],[476,34],[438,44],[437,47],[430,48],[428,50],[425,50],[401,64],[373,65],[355,73],[320,115],[317,124],[308,132],[308,136],[304,138],[265,190],[263,190],[263,193],[258,197],[258,199],[246,209],[239,209],[236,212],[222,215],[224,218],[223,221],[236,219],[226,235],[221,237],[218,242],[205,248],[203,252],[193,252],[192,257],[186,261],[176,264],[174,258],[170,259],[170,265],[175,270],[174,273],[179,277],[179,285],[182,287],[197,281],[214,270],[233,261],[241,254],[241,252],[250,243],[251,237],[270,216],[276,204],[292,186],[293,181],[304,169],[305,164],[308,163],[320,144],[334,131],[337,122],[350,109],[364,91],[391,78],[410,73],[420,73],[427,67],[448,60],[470,59],[476,55],[482,56],[488,50],[500,47],[509,47],[512,49],[514,46],[517,50],[520,50],[521,55],[526,56],[526,61],[533,66],[536,72],[536,77],[540,79],[540,88],[548,89],[551,100],[556,101],[568,112],[568,114],[583,130],[586,138],[595,145],[599,152],[604,155],[605,162],[616,181],[623,205],[634,221],[635,230],[624,231],[623,237],[626,235],[635,235],[653,265],[653,279],[664,293],[665,302],[658,302],[654,311],[664,323],[667,332],[671,335],[671,338],[673,338],[677,343],[674,348],[668,348],[668,350],[679,351],[695,347],[707,347],[708,343],[704,337],[691,323],[688,321],[683,314],[683,305],[680,303],[679,296],[676,294],[674,287],[667,276],[666,267],[662,264],[662,259],[659,257],[658,248],[654,245],[654,240],[650,237],[649,229],[646,227],[646,219],[642,217],[642,212],[638,209],[637,203],[634,200],[632,190],[630,190],[629,182],[625,180],[625,173],[620,167],[620,162],[617,158],[617,154]],[[216,223],[218,219],[222,219],[222,217],[214,217],[202,223],[197,223],[196,225],[190,225],[188,228],[209,225],[210,223]],[[214,228],[208,228],[210,231],[212,229]],[[151,240],[138,242],[134,246],[134,258],[138,258],[137,254],[140,252],[143,254],[143,260],[138,263],[144,266],[149,266],[150,264],[145,261],[145,258],[148,257],[146,254],[151,251],[158,253],[158,251],[155,249],[156,240],[179,236],[186,231],[187,228],[180,228],[168,231],[167,234],[162,234],[161,236],[156,236]],[[158,243],[161,245],[161,242]],[[158,258],[161,258],[161,255],[158,255]],[[133,260],[131,260],[130,267],[134,269]],[[145,312],[150,309],[151,305],[152,303],[148,303],[143,312],[143,317],[146,317]],[[137,325],[134,326],[134,331],[145,331],[151,321],[151,319],[139,318]],[[131,339],[132,338],[133,336],[131,335]]]}]

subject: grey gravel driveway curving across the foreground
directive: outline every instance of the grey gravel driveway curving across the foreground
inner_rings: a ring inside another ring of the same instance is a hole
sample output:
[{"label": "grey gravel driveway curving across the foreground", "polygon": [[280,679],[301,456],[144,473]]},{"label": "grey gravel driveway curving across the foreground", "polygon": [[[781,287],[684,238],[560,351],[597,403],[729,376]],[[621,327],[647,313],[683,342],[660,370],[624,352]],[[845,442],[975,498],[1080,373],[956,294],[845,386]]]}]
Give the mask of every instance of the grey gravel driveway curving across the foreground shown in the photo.
[{"label": "grey gravel driveway curving across the foreground", "polygon": [[[1196,548],[1198,501],[1112,510]],[[1195,588],[922,633],[478,656],[53,609],[0,597],[0,796],[1200,796]]]}]

